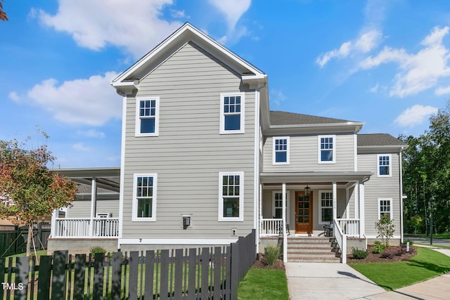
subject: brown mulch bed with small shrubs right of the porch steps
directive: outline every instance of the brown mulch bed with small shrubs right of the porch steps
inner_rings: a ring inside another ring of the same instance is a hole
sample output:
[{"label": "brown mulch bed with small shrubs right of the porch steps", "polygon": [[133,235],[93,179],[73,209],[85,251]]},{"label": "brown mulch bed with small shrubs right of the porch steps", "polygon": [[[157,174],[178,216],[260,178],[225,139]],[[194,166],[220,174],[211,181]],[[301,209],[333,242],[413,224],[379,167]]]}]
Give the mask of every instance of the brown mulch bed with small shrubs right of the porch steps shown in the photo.
[{"label": "brown mulch bed with small shrubs right of the porch steps", "polygon": [[387,247],[383,253],[372,253],[373,244],[367,245],[368,256],[365,259],[354,259],[352,254],[347,255],[347,263],[394,263],[397,261],[408,261],[417,254],[415,247],[411,247],[409,253],[401,246]]}]

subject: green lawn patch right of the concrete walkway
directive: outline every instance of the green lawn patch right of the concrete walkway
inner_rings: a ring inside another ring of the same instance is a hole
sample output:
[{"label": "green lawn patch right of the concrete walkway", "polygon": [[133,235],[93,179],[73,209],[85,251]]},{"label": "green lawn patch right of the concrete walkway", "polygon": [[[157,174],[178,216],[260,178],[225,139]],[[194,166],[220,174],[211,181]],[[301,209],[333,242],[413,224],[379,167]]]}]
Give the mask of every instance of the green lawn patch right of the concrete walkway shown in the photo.
[{"label": "green lawn patch right of the concrete walkway", "polygon": [[349,266],[388,291],[435,278],[450,270],[449,256],[427,248],[417,247],[417,251],[409,261],[350,263]]}]

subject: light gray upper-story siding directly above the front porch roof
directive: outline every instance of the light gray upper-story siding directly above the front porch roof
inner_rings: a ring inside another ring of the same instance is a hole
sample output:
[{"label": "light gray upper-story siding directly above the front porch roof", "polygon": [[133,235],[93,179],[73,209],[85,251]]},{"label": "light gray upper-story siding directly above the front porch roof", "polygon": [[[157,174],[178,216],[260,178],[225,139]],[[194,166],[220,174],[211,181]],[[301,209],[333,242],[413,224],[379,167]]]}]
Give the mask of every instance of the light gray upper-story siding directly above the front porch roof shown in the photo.
[{"label": "light gray upper-story siding directly above the front porch roof", "polygon": [[317,135],[290,136],[290,163],[273,164],[273,138],[264,143],[264,172],[276,171],[354,171],[354,135],[336,135],[335,164],[319,164]]}]

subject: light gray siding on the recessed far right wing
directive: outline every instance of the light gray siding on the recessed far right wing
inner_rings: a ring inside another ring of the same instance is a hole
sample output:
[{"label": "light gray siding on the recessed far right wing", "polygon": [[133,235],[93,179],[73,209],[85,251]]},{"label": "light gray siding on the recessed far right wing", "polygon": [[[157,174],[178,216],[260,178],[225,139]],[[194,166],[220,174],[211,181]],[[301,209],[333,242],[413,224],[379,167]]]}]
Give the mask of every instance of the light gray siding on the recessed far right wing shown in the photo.
[{"label": "light gray siding on the recessed far right wing", "polygon": [[[395,224],[394,236],[400,235],[400,170],[399,154],[392,155],[392,177],[378,177],[377,155],[382,153],[359,154],[358,169],[360,171],[373,171],[371,179],[364,184],[364,214],[366,221],[366,235],[376,237],[375,222],[378,221],[378,199],[392,198],[392,219]],[[383,153],[386,154],[386,153]]]}]

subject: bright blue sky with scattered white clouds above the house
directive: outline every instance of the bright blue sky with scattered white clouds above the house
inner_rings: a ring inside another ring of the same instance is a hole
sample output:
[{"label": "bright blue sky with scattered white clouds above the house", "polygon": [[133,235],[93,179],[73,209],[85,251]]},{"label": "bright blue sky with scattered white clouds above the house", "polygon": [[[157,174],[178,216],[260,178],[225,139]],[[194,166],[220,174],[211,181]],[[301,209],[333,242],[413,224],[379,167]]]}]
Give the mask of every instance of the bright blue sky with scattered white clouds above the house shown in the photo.
[{"label": "bright blue sky with scattered white clouds above the house", "polygon": [[[419,136],[450,95],[450,1],[5,0],[0,140],[51,137],[51,167],[120,165],[109,82],[184,22],[269,76],[271,110]],[[449,48],[447,48],[449,47]]]}]

